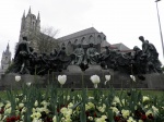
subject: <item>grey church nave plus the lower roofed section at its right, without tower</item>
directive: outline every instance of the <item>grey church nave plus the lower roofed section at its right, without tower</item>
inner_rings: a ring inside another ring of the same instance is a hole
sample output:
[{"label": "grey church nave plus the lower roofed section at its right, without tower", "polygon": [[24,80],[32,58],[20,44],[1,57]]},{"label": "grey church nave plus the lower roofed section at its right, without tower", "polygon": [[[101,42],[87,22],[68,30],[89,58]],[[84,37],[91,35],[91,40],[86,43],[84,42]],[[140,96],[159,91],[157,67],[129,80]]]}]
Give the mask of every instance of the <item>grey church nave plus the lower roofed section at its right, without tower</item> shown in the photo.
[{"label": "grey church nave plus the lower roofed section at its right, without tower", "polygon": [[113,50],[119,50],[121,53],[132,51],[121,42],[114,44],[114,45],[109,44],[106,40],[106,35],[104,33],[99,33],[94,27],[90,27],[90,28],[70,34],[68,36],[60,37],[58,38],[58,40],[59,40],[60,47],[65,46],[67,48],[68,53],[72,52],[72,49],[73,49],[72,46],[77,46],[81,44],[84,47],[85,45],[89,45],[91,42],[94,45],[99,45],[99,51],[104,51],[106,46],[108,46]]}]

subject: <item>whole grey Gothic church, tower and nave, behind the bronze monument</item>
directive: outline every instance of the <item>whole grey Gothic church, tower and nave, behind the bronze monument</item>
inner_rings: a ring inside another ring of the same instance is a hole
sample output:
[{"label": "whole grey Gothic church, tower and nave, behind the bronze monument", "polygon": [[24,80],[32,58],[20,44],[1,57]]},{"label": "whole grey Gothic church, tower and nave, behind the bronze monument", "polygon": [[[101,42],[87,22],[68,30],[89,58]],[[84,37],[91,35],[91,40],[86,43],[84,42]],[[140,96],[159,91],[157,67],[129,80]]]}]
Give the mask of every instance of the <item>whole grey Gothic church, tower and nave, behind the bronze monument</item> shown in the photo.
[{"label": "whole grey Gothic church, tower and nave, behind the bronze monument", "polygon": [[[21,23],[21,30],[20,30],[20,41],[22,40],[23,36],[26,36],[28,38],[31,47],[33,47],[34,51],[37,52],[37,44],[35,38],[33,38],[33,35],[37,35],[40,33],[40,16],[39,13],[36,17],[31,12],[31,8],[28,10],[27,15],[25,15],[25,12],[22,16],[22,23]],[[44,35],[45,37],[47,35]],[[74,49],[74,46],[81,44],[83,46],[89,44],[99,45],[99,51],[104,50],[105,46],[109,46],[110,48],[114,48],[116,50],[130,50],[128,47],[126,47],[124,44],[115,44],[112,45],[106,40],[106,35],[104,33],[99,33],[94,27],[90,27],[80,32],[75,32],[73,34],[60,37],[55,39],[54,41],[58,41],[59,47],[66,47],[67,53],[71,53]]]}]

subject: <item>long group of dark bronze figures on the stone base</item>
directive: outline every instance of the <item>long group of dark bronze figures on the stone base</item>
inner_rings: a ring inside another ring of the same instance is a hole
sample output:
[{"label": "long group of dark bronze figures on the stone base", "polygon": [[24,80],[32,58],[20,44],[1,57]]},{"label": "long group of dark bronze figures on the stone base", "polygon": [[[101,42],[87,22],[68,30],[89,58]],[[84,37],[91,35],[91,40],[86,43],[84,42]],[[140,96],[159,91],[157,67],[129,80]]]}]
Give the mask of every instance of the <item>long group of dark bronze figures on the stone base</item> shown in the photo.
[{"label": "long group of dark bronze figures on the stone base", "polygon": [[37,53],[28,46],[26,37],[16,46],[13,69],[10,72],[20,74],[45,75],[48,72],[62,72],[68,65],[79,65],[85,71],[90,65],[101,65],[102,69],[119,71],[125,74],[162,73],[159,53],[154,45],[145,40],[143,36],[142,49],[134,46],[133,50],[121,53],[106,46],[105,51],[98,52],[93,44],[84,50],[78,45],[71,54],[67,54],[66,47],[54,50],[51,53]]}]

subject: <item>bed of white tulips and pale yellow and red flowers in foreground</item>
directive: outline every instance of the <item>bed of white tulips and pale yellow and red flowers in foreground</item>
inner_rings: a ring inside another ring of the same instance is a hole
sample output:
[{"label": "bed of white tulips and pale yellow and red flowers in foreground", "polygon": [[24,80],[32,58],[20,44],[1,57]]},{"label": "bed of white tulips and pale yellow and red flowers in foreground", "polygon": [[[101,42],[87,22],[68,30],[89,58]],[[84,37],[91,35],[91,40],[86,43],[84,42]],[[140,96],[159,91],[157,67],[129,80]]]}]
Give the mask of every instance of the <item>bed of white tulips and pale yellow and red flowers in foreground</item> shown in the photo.
[{"label": "bed of white tulips and pale yellow and red flowers in foreground", "polygon": [[[66,80],[58,77],[61,86]],[[133,88],[103,93],[98,76],[91,81],[95,88],[90,96],[86,88],[74,91],[55,84],[44,91],[31,84],[21,91],[7,90],[8,99],[0,99],[0,122],[164,122],[164,96],[143,96]]]}]

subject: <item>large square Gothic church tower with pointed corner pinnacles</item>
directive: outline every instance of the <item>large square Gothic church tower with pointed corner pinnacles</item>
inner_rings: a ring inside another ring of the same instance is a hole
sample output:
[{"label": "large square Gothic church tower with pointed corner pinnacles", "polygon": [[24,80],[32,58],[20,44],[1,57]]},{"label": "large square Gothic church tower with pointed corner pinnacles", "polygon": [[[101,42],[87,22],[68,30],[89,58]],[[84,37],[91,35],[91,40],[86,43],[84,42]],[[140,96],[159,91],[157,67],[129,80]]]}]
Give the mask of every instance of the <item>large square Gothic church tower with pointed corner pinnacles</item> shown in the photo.
[{"label": "large square Gothic church tower with pointed corner pinnacles", "polygon": [[35,47],[35,35],[40,33],[40,17],[39,17],[39,12],[36,17],[31,12],[31,8],[28,10],[27,15],[25,15],[25,11],[22,16],[22,23],[21,23],[21,30],[20,30],[20,39],[19,41],[22,41],[22,37],[26,36],[27,40],[30,41],[30,45],[32,47]]}]

